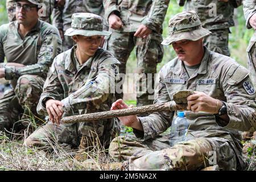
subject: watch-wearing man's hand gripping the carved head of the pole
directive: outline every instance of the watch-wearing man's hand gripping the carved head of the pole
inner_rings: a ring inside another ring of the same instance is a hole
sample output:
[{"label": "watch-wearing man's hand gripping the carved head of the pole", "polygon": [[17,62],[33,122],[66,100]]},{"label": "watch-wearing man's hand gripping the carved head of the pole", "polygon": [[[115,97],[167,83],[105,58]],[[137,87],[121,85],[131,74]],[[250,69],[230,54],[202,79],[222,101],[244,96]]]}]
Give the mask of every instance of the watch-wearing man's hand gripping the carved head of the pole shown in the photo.
[{"label": "watch-wearing man's hand gripping the carved head of the pole", "polygon": [[187,97],[188,110],[195,113],[204,111],[207,113],[217,114],[222,102],[216,100],[203,92],[196,92],[195,94]]}]

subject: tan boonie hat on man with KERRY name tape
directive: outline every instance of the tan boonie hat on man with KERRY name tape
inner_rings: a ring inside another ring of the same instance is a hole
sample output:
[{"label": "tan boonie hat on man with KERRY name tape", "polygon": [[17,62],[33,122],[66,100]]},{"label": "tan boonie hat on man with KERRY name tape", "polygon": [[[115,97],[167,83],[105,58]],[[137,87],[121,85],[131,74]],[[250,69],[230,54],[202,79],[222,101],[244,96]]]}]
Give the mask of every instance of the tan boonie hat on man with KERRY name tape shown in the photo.
[{"label": "tan boonie hat on man with KERRY name tape", "polygon": [[169,34],[162,44],[170,45],[183,39],[196,41],[209,34],[211,32],[202,27],[195,11],[184,11],[169,20]]}]

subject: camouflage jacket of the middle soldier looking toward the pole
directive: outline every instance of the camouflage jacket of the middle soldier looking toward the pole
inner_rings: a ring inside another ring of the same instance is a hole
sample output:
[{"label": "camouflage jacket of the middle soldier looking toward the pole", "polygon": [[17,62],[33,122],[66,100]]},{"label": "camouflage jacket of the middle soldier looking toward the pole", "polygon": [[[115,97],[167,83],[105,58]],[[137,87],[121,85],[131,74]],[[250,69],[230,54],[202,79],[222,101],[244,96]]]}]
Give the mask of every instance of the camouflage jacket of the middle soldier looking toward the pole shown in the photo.
[{"label": "camouflage jacket of the middle soldier looking toward the pole", "polygon": [[64,104],[64,115],[86,114],[110,110],[114,98],[115,76],[119,61],[99,48],[77,71],[74,47],[58,55],[49,70],[38,113],[47,115],[45,98]]}]

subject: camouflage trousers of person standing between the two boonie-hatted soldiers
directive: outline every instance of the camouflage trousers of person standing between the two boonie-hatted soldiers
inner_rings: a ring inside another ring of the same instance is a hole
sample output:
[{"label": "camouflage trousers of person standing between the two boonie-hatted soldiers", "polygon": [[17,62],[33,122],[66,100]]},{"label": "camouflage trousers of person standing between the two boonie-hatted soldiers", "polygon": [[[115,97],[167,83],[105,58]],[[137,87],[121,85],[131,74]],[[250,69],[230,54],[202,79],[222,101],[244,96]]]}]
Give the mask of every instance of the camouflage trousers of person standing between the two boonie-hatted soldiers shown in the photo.
[{"label": "camouflage trousers of person standing between the two boonie-hatted soldiers", "polygon": [[[135,32],[112,32],[106,40],[104,48],[112,52],[120,61],[119,73],[122,76],[126,73],[126,63],[134,47],[137,55],[137,71],[139,74],[136,81],[137,106],[152,104],[154,101],[154,76],[147,73],[156,73],[156,66],[163,59],[162,35],[152,33],[147,38],[136,38]],[[123,74],[122,74],[123,73]],[[154,74],[152,74],[154,75]],[[120,89],[116,90],[117,99],[123,97],[122,84],[125,81],[122,77]],[[150,90],[150,88],[153,88]]]}]

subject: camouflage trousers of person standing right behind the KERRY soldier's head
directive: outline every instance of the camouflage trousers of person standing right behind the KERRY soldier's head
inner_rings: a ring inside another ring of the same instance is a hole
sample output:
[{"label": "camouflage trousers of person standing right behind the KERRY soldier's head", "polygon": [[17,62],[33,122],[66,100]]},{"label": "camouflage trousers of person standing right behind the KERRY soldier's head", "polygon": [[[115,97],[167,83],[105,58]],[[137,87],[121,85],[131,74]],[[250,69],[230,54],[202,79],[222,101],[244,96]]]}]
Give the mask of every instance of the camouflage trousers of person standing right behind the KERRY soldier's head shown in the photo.
[{"label": "camouflage trousers of person standing right behind the KERRY soldier's head", "polygon": [[210,30],[212,34],[205,36],[204,45],[213,52],[230,56],[229,52],[229,28]]}]

